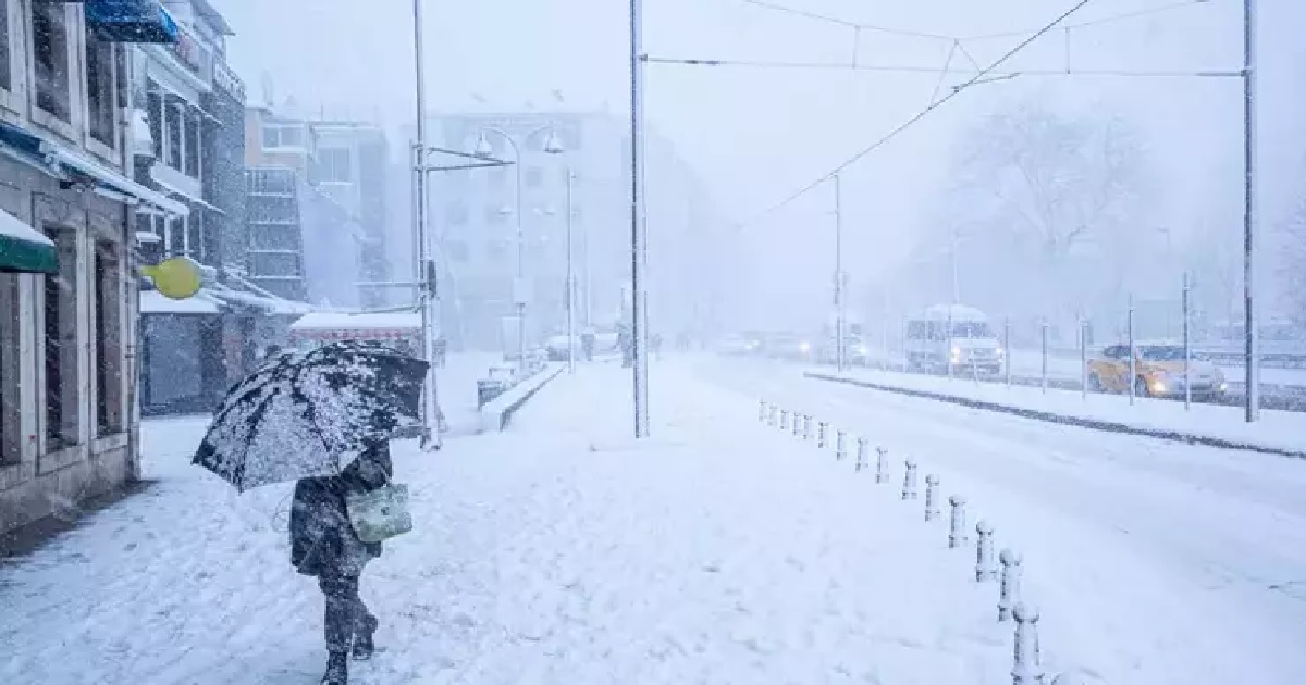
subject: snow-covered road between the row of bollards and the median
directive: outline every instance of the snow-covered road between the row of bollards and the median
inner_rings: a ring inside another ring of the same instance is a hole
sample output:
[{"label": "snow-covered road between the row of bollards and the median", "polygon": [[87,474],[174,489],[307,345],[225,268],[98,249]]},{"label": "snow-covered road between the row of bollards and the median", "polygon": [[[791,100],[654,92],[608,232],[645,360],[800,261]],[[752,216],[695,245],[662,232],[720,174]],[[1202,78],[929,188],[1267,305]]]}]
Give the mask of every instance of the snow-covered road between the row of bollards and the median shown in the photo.
[{"label": "snow-covered road between the row of bollards and the median", "polygon": [[1303,681],[1306,463],[845,388],[765,361],[699,368],[939,472],[1025,552],[1045,643],[1074,645],[1109,682]]}]

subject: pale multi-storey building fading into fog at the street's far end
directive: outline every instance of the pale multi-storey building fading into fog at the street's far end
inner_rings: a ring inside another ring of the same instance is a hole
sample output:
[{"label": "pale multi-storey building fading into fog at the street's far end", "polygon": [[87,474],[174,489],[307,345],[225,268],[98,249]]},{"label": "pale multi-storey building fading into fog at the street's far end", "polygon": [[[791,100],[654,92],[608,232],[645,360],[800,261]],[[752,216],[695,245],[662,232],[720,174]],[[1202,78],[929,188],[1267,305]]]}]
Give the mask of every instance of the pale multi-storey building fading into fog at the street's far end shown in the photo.
[{"label": "pale multi-storey building fading into fog at the street's far end", "polygon": [[[432,124],[435,145],[474,151],[483,136],[494,158],[520,163],[529,339],[538,343],[565,330],[568,226],[576,325],[616,326],[626,316],[631,277],[627,121],[602,112],[522,112],[445,114]],[[545,150],[550,133],[560,154]],[[670,141],[650,134],[645,153],[649,322],[670,339],[709,326],[716,316],[720,288],[712,270],[722,258],[720,222],[700,179]],[[441,325],[454,346],[512,347],[504,321],[515,317],[517,177],[516,166],[432,177]],[[394,204],[410,207],[410,196]],[[407,252],[392,258],[411,269]]]}]

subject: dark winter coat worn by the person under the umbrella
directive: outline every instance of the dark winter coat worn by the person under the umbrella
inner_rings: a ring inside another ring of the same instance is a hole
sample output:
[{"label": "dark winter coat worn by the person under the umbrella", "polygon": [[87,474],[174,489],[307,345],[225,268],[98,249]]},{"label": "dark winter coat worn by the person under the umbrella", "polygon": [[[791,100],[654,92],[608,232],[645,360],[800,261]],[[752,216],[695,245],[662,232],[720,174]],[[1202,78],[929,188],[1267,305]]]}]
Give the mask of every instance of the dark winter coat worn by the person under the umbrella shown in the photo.
[{"label": "dark winter coat worn by the person under the umbrella", "polygon": [[290,564],[304,575],[358,575],[381,543],[358,539],[345,496],[370,492],[393,474],[389,442],[367,448],[336,476],[303,478],[290,505]]}]

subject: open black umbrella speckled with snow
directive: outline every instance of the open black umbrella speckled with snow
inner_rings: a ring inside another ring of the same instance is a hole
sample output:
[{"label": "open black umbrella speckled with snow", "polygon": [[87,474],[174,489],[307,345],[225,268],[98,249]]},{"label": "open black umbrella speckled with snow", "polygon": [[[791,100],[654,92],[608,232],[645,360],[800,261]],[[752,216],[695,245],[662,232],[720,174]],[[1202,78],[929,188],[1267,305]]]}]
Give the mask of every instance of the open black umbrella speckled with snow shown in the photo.
[{"label": "open black umbrella speckled with snow", "polygon": [[193,463],[240,491],[334,475],[370,438],[419,420],[426,371],[377,343],[282,354],[227,391]]}]

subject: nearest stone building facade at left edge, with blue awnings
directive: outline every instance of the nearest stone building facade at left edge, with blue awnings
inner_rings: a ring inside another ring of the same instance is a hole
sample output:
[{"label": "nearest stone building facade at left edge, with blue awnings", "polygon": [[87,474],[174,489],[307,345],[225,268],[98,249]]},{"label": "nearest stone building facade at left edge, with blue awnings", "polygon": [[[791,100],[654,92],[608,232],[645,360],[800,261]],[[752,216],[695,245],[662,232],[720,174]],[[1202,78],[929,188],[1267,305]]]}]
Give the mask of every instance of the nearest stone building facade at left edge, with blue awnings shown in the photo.
[{"label": "nearest stone building facade at left edge, with blue awnings", "polygon": [[3,532],[138,478],[136,217],[188,207],[131,177],[129,43],[176,40],[158,3],[0,0],[0,218],[55,254],[0,267]]}]

